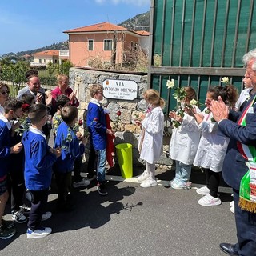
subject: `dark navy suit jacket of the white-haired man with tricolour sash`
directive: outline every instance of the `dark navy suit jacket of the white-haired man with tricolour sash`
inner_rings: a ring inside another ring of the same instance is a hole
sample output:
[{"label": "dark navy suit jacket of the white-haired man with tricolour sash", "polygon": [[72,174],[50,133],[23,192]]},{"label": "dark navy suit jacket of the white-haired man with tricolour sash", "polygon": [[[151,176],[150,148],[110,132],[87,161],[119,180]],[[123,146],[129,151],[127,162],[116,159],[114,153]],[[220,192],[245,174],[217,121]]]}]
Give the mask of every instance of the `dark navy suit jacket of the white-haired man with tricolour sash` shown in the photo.
[{"label": "dark navy suit jacket of the white-haired man with tricolour sash", "polygon": [[[250,104],[254,99],[254,95],[247,104]],[[256,146],[256,104],[252,107],[254,113],[248,113],[246,115],[246,126],[240,126],[236,123],[243,112],[234,112],[233,110],[230,110],[229,120],[222,120],[218,125],[218,129],[227,137],[230,137],[230,143],[226,150],[226,157],[223,163],[222,175],[225,182],[235,190],[239,190],[241,178],[248,170],[246,166],[247,161],[238,151],[237,142]],[[243,110],[246,110],[246,107]]]}]

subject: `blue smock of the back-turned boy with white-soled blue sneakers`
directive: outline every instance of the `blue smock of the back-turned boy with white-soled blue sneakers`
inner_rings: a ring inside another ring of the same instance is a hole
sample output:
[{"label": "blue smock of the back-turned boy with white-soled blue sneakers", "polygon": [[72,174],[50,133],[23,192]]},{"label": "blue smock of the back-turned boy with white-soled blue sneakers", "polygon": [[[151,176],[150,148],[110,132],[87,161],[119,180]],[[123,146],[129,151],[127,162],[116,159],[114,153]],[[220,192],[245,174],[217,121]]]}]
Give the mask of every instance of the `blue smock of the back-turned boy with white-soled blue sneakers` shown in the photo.
[{"label": "blue smock of the back-turned boy with white-soled blue sneakers", "polygon": [[50,153],[46,136],[41,131],[30,127],[22,137],[25,151],[25,185],[29,190],[46,190],[50,186],[52,166],[56,156]]}]

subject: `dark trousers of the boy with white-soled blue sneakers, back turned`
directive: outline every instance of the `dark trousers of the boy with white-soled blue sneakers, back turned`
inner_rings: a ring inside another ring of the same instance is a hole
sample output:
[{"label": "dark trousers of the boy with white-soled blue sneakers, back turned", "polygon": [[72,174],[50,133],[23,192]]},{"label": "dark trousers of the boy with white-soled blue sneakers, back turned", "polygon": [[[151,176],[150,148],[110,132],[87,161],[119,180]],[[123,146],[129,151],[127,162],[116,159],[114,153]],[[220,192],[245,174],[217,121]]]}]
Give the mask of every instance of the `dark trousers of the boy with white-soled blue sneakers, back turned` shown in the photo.
[{"label": "dark trousers of the boy with white-soled blue sneakers, back turned", "polygon": [[33,201],[31,202],[30,218],[27,226],[34,231],[41,226],[42,214],[46,212],[48,189],[30,190],[30,192],[33,194]]}]

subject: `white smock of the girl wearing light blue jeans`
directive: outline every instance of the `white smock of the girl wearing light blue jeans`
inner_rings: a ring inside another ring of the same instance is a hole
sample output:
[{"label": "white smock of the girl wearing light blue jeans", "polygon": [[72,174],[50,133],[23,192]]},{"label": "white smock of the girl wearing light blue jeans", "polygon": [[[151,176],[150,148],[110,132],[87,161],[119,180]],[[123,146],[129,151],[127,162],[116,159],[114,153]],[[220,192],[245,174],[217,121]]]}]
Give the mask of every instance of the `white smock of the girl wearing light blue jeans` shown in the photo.
[{"label": "white smock of the girl wearing light blue jeans", "polygon": [[[196,107],[196,112],[201,111]],[[193,117],[184,113],[181,126],[172,130],[170,138],[170,158],[182,162],[185,165],[192,165],[195,154],[198,150],[201,130]]]}]

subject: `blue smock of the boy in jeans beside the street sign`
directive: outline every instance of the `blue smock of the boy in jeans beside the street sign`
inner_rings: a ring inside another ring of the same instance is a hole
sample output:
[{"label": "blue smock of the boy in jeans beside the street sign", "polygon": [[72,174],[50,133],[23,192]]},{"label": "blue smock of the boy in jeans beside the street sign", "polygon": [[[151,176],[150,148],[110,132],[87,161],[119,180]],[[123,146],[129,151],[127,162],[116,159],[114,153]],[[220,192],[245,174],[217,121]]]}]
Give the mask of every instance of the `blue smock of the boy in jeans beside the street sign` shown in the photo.
[{"label": "blue smock of the boy in jeans beside the street sign", "polygon": [[106,149],[106,118],[102,106],[97,102],[88,105],[86,124],[91,134],[94,150]]}]

